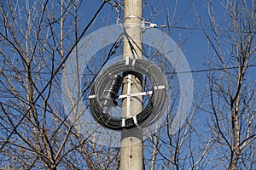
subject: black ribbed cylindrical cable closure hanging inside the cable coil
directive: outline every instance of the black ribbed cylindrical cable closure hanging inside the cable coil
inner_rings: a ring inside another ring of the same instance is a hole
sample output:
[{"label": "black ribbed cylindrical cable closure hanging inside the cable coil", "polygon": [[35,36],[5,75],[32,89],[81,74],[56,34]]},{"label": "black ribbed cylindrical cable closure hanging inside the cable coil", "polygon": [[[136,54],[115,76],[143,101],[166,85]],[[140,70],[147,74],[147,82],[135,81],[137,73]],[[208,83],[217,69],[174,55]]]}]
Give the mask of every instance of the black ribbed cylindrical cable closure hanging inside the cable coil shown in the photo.
[{"label": "black ribbed cylindrical cable closure hanging inside the cable coil", "polygon": [[109,81],[106,88],[104,89],[102,96],[100,97],[100,103],[109,108],[118,105],[115,99],[118,98],[119,89],[123,83],[123,78],[116,75],[113,80]]}]

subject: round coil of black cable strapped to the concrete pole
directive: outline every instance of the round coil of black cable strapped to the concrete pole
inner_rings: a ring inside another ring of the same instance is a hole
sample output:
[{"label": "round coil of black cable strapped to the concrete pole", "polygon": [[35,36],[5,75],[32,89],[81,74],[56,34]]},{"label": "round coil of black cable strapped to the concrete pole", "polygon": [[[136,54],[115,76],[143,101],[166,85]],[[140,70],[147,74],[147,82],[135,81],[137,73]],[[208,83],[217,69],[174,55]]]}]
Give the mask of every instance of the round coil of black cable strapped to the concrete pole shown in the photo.
[{"label": "round coil of black cable strapped to the concrete pole", "polygon": [[[106,82],[113,80],[117,75],[131,71],[148,77],[151,83],[151,98],[148,105],[137,114],[137,116],[118,118],[111,116],[110,113],[103,111],[99,100],[102,98]],[[160,116],[166,110],[166,79],[159,68],[152,62],[144,59],[129,59],[129,62],[123,60],[115,65],[111,65],[96,79],[96,82],[90,90],[90,95],[95,95],[90,99],[90,112],[96,122],[103,127],[113,130],[131,129],[134,127],[148,127],[160,119]],[[163,88],[164,87],[164,88]]]}]

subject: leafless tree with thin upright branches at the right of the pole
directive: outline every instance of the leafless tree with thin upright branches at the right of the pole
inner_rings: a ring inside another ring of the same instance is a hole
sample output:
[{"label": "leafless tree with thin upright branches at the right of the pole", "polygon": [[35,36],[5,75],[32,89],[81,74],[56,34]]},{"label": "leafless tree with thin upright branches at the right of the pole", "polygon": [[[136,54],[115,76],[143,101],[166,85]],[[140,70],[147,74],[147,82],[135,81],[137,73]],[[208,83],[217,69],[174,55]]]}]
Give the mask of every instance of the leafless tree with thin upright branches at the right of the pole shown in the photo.
[{"label": "leafless tree with thin upright branches at the right of the pole", "polygon": [[[168,122],[146,141],[151,146],[151,169],[255,168],[255,3],[209,1],[207,7],[209,18],[199,16],[196,10],[195,15],[210,48],[206,62],[208,88],[200,96],[195,95],[194,110],[177,134],[166,137],[171,125]],[[169,24],[171,29],[175,23]],[[174,88],[177,82],[171,79],[170,87]],[[178,97],[175,92],[172,96]],[[175,105],[176,101],[172,102]],[[200,116],[202,112],[206,116]],[[207,120],[197,122],[198,117]]]}]

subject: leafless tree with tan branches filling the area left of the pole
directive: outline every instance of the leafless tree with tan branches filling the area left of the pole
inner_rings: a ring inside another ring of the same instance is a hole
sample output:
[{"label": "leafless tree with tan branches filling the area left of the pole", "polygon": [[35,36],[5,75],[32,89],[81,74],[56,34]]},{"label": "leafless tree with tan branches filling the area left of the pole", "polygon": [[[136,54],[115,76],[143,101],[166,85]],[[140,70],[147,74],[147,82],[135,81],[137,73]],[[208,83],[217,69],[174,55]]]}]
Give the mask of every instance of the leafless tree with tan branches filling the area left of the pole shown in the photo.
[{"label": "leafless tree with tan branches filling the area left of the pole", "polygon": [[88,136],[74,128],[79,116],[68,120],[61,101],[60,73],[89,27],[79,30],[80,4],[63,0],[1,3],[2,168],[118,167],[113,160],[118,159],[119,150],[90,144]]}]

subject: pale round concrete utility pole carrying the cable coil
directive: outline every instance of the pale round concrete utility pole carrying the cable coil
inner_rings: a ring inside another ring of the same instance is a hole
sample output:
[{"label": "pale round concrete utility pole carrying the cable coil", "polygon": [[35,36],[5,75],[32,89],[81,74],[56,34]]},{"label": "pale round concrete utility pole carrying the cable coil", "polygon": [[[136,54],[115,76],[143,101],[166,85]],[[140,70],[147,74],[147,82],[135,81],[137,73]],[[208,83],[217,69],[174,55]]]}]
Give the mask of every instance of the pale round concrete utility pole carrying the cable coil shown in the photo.
[{"label": "pale round concrete utility pole carrying the cable coil", "polygon": [[[127,59],[142,59],[142,0],[125,0],[125,30],[132,41],[124,37],[124,54]],[[142,92],[142,75],[124,74],[123,94],[128,94],[122,102],[122,117],[136,116],[143,110],[142,96],[131,98],[129,94]],[[121,170],[143,169],[143,130],[136,128],[121,133]]]}]

